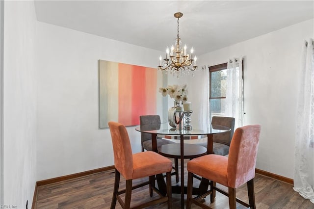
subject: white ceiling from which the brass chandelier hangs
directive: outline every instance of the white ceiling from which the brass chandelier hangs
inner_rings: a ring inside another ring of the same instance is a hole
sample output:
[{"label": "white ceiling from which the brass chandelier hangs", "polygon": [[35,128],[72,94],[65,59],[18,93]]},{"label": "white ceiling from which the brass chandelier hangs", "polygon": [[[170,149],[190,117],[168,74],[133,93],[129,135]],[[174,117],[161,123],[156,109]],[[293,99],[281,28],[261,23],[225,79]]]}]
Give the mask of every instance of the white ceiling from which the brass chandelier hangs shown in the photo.
[{"label": "white ceiling from which the brass chandelier hangs", "polygon": [[[37,20],[165,51],[177,37],[196,55],[314,17],[314,1],[35,0]],[[288,35],[288,34],[287,34]]]}]

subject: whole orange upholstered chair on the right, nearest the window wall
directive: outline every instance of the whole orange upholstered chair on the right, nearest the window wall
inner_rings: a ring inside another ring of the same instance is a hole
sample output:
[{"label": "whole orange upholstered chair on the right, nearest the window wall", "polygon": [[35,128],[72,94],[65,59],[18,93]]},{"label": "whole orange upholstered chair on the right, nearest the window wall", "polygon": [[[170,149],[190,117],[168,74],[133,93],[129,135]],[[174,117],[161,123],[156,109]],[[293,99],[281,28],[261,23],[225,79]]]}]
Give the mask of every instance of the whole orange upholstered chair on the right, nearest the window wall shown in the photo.
[{"label": "whole orange upholstered chair on the right, nearest the window wall", "polygon": [[[254,177],[256,157],[260,139],[261,126],[251,125],[237,128],[230,144],[229,157],[219,155],[207,155],[197,157],[187,162],[187,202],[186,209],[191,208],[194,203],[202,208],[209,208],[199,202],[199,197],[210,194],[210,201],[214,201],[215,191],[229,197],[230,209],[236,209],[236,203],[255,209],[254,197]],[[205,194],[192,198],[193,174],[197,174],[210,180],[210,190]],[[228,187],[229,192],[225,192],[215,186],[220,183]],[[235,197],[235,189],[247,183],[249,204],[242,202]]]}]

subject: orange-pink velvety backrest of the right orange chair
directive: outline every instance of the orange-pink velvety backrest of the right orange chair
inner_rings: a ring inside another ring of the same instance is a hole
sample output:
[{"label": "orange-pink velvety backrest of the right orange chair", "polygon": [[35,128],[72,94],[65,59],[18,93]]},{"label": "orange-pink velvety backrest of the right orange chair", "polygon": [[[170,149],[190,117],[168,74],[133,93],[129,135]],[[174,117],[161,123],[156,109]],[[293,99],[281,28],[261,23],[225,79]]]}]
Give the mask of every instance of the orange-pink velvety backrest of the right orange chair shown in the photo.
[{"label": "orange-pink velvety backrest of the right orange chair", "polygon": [[237,188],[255,176],[260,125],[237,128],[230,144],[228,157],[228,186]]}]

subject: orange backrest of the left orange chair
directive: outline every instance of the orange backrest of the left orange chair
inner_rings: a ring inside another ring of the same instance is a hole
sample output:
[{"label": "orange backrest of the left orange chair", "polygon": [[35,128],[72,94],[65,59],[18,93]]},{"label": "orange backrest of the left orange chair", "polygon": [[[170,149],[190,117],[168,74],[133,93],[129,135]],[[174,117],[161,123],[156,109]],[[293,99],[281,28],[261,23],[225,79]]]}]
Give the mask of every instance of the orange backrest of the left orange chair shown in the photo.
[{"label": "orange backrest of the left orange chair", "polygon": [[112,140],[114,167],[128,180],[133,173],[133,155],[130,138],[123,124],[109,122]]}]

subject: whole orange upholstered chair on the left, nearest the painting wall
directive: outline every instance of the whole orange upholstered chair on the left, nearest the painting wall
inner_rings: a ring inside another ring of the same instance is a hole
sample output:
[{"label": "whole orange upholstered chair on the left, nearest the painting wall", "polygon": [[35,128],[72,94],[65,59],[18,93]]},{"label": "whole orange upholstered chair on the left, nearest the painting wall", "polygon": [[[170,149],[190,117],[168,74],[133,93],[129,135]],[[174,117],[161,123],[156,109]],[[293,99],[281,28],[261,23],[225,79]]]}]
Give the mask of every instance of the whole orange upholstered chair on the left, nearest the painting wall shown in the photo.
[{"label": "whole orange upholstered chair on the left, nearest the painting wall", "polygon": [[[116,122],[109,122],[108,124],[112,139],[115,167],[114,191],[110,208],[114,209],[118,200],[123,209],[129,209],[132,189],[149,184],[150,196],[153,195],[152,190],[155,190],[160,198],[149,201],[148,203],[140,204],[136,207],[143,208],[154,204],[168,202],[168,209],[171,209],[171,160],[152,151],[132,154],[131,143],[126,127]],[[161,195],[155,187],[154,176],[162,173],[166,173],[167,196]],[[126,179],[126,189],[122,191],[119,191],[120,174]],[[149,177],[149,182],[132,186],[133,179],[143,177]],[[123,193],[125,193],[124,202],[119,196]]]}]

